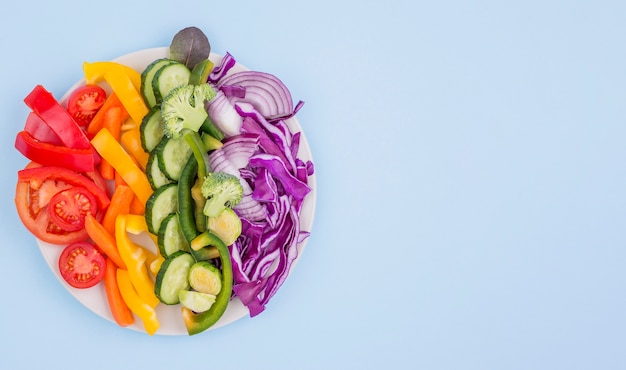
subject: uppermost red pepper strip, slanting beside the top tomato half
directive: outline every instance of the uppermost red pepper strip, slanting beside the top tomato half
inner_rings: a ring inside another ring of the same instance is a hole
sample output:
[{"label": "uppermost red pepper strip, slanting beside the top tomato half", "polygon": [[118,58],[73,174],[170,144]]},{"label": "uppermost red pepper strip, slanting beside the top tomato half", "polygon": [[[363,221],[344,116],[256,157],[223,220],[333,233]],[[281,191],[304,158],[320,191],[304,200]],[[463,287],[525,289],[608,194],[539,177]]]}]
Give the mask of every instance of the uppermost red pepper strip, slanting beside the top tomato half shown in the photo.
[{"label": "uppermost red pepper strip, slanting beside the top tomato half", "polygon": [[65,146],[72,149],[91,148],[91,143],[83,130],[43,86],[35,86],[24,98],[24,102],[54,131]]}]

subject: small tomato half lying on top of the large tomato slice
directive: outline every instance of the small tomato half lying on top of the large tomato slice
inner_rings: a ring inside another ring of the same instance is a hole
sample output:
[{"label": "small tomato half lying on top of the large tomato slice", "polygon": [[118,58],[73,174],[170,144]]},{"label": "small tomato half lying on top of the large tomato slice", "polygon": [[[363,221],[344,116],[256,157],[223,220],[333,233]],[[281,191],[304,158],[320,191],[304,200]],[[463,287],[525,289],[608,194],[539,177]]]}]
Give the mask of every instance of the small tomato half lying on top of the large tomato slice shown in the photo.
[{"label": "small tomato half lying on top of the large tomato slice", "polygon": [[87,214],[96,215],[96,197],[87,189],[71,187],[61,190],[48,203],[50,219],[65,231],[77,231],[85,227]]}]

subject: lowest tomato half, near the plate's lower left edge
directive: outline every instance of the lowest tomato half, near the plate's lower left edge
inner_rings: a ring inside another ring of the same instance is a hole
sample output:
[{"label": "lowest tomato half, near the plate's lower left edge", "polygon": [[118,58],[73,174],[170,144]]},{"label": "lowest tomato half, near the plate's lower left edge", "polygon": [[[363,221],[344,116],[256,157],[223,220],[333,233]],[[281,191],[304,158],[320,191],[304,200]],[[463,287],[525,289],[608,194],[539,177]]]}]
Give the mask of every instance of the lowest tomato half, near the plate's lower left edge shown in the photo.
[{"label": "lowest tomato half, near the plate's lower left edge", "polygon": [[104,278],[106,259],[96,247],[87,242],[72,243],[59,257],[59,272],[74,288],[91,288]]}]

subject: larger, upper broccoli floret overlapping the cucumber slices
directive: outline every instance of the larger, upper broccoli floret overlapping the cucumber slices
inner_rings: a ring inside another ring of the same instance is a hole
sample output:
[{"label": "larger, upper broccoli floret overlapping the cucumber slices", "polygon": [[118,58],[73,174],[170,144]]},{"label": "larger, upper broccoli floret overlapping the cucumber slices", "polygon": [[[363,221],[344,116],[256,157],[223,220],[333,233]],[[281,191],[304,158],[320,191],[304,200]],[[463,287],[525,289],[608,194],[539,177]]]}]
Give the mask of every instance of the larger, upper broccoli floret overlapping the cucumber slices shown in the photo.
[{"label": "larger, upper broccoli floret overlapping the cucumber slices", "polygon": [[168,137],[180,137],[184,128],[198,131],[207,119],[205,102],[215,97],[209,84],[181,85],[170,91],[161,102],[163,132]]}]

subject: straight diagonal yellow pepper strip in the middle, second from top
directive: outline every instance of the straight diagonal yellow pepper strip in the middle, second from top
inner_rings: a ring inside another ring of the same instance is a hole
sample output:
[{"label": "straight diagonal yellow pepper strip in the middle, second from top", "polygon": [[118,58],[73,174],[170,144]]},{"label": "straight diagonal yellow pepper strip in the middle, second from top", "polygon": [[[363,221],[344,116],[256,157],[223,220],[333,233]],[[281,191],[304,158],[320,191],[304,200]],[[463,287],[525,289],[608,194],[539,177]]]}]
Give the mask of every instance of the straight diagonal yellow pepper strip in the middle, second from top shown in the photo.
[{"label": "straight diagonal yellow pepper strip in the middle, second from top", "polygon": [[115,171],[133,189],[139,201],[145,204],[153,192],[148,177],[135,164],[133,158],[124,150],[122,145],[115,140],[111,132],[103,128],[91,139],[91,144],[103,159],[111,163]]}]

